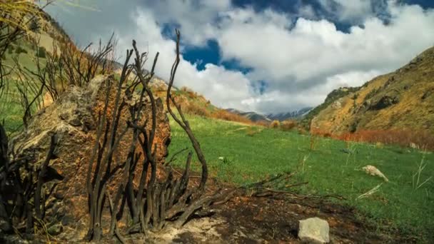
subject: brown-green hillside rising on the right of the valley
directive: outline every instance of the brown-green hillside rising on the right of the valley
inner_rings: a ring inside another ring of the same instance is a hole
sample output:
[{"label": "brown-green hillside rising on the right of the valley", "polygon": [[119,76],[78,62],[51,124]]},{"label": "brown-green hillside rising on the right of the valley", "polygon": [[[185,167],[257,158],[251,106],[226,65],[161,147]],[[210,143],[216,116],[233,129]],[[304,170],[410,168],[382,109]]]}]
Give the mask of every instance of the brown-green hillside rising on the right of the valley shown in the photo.
[{"label": "brown-green hillside rising on the right of the valley", "polygon": [[434,47],[363,86],[333,91],[303,120],[311,131],[434,133]]}]

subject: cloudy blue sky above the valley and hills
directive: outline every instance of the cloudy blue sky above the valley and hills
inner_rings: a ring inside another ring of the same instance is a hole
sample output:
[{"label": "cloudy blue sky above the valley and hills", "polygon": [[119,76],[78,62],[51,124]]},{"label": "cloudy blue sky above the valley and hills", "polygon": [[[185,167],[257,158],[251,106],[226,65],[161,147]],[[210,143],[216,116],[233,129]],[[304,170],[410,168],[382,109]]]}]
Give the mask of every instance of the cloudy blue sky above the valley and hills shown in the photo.
[{"label": "cloudy blue sky above the valley and hills", "polygon": [[46,11],[79,46],[114,32],[123,63],[135,39],[160,52],[168,79],[181,31],[175,85],[221,108],[258,113],[322,103],[330,91],[361,86],[434,46],[433,0],[88,0]]}]

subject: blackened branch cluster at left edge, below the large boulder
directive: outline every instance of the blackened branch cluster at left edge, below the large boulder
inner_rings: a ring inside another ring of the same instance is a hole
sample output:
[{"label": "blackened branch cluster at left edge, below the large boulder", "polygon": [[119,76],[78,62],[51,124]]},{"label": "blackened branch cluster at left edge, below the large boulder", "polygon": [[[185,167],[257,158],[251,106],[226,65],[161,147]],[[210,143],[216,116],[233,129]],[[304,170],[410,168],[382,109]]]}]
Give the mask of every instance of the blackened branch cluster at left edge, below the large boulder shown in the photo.
[{"label": "blackened branch cluster at left edge, below the large boulder", "polygon": [[[29,158],[12,157],[4,127],[0,125],[0,220],[2,230],[25,233],[31,236],[35,228],[43,228],[46,217],[46,201],[56,188],[51,184],[48,194],[46,183],[61,181],[63,176],[49,166],[56,158],[56,135],[43,161],[32,162]],[[6,225],[6,226],[5,226]]]}]

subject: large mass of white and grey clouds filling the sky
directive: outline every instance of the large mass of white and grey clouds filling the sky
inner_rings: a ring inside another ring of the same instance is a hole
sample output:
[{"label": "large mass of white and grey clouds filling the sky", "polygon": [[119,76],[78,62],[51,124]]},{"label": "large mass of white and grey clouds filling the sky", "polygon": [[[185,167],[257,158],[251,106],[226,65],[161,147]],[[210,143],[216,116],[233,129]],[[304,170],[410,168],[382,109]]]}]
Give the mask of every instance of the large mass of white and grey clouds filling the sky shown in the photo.
[{"label": "large mass of white and grey clouds filling the sky", "polygon": [[[148,44],[151,57],[160,51],[156,71],[163,78],[175,55],[174,41],[162,34],[164,24],[180,26],[183,45],[189,47],[217,41],[222,61],[236,60],[252,70],[243,74],[208,63],[199,71],[182,59],[176,85],[203,93],[217,106],[263,113],[316,106],[333,88],[360,86],[434,44],[433,9],[397,1],[380,7],[377,1],[318,1],[326,10],[337,10],[334,19],[318,19],[321,14],[309,5],[291,15],[238,8],[230,0],[146,1],[116,33],[121,50],[134,38],[141,50]],[[387,24],[376,17],[375,8],[387,13]],[[306,18],[295,21],[294,16]],[[332,21],[355,24],[343,32]],[[251,85],[258,81],[267,82],[262,94]]]}]

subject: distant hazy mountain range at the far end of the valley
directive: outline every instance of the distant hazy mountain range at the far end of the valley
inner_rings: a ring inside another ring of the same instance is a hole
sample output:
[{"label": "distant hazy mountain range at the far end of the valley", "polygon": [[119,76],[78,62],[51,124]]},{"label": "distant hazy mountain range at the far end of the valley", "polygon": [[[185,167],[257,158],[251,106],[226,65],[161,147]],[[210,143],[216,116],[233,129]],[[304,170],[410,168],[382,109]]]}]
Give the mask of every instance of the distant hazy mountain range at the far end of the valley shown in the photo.
[{"label": "distant hazy mountain range at the far end of the valley", "polygon": [[236,113],[238,115],[246,117],[246,118],[248,118],[249,120],[251,120],[253,122],[258,122],[258,121],[271,122],[271,121],[274,121],[274,120],[277,120],[277,121],[286,121],[288,119],[299,119],[299,118],[303,118],[303,116],[305,116],[311,110],[312,110],[312,108],[308,107],[308,108],[301,108],[300,110],[291,111],[291,112],[288,112],[288,113],[261,114],[261,113],[256,113],[256,112],[239,111],[238,109],[235,109],[235,108],[228,108],[228,109],[226,109],[226,111],[229,111],[231,113]]}]

